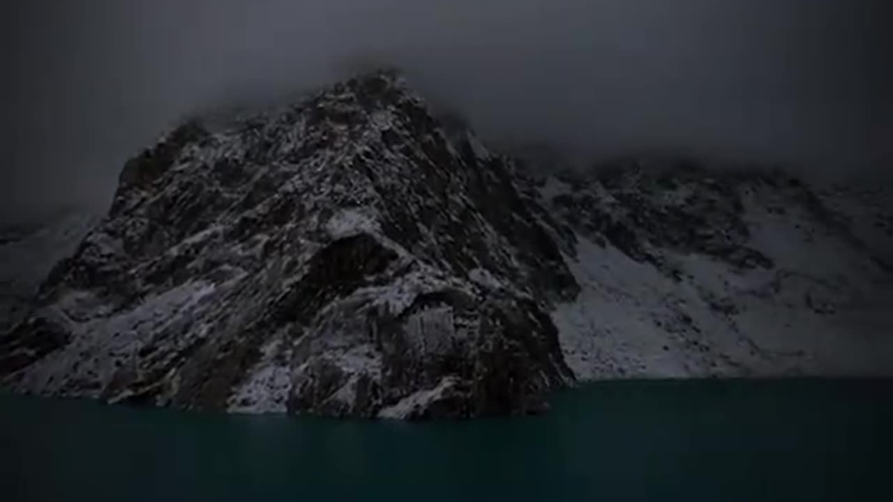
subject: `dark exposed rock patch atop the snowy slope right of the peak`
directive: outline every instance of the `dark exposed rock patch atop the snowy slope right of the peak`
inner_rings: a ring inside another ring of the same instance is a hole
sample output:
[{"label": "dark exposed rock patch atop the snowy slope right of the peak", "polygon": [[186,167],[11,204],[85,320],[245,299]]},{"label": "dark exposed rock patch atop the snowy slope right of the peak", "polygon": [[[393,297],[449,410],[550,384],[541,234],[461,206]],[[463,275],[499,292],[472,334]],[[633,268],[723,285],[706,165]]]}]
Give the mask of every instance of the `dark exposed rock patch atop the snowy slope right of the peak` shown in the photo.
[{"label": "dark exposed rock patch atop the snowy slope right of the peak", "polygon": [[622,159],[588,174],[566,173],[563,180],[572,191],[551,203],[569,226],[669,276],[678,271],[649,249],[709,255],[741,269],[772,267],[768,256],[748,247],[735,175],[721,178],[684,158]]}]

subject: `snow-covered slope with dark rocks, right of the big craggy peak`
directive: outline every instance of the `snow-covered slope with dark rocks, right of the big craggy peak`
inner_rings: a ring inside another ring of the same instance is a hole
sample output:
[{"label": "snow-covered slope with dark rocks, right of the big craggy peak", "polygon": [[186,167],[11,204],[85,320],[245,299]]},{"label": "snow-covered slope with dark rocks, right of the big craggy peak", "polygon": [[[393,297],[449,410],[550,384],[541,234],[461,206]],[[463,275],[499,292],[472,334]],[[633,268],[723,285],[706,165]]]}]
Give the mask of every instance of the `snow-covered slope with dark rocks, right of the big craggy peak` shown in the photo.
[{"label": "snow-covered slope with dark rocks, right of the big craggy peak", "polygon": [[539,185],[576,230],[582,291],[552,315],[581,380],[893,372],[891,276],[837,222],[852,199],[671,161]]}]

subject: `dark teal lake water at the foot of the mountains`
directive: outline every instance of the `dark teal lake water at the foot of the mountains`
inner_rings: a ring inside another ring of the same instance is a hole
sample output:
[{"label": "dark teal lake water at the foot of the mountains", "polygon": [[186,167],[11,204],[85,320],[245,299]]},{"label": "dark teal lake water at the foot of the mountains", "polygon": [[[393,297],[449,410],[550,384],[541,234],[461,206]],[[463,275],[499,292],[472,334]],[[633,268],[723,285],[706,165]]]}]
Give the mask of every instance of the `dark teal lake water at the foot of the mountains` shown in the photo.
[{"label": "dark teal lake water at the foot of the mountains", "polygon": [[0,500],[893,500],[893,381],[628,381],[449,423],[0,396]]}]

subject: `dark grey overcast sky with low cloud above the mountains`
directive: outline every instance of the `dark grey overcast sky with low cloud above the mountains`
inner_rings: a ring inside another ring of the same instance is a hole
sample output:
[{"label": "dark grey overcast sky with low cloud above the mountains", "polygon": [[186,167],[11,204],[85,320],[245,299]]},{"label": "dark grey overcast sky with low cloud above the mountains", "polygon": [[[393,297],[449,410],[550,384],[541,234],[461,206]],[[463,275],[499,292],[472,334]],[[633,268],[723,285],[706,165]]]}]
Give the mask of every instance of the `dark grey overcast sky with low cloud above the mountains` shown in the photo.
[{"label": "dark grey overcast sky with low cloud above the mountains", "polygon": [[184,113],[316,86],[367,59],[403,66],[489,138],[586,157],[680,146],[853,172],[885,147],[893,154],[887,0],[6,0],[3,9],[7,214],[103,206],[125,159]]}]

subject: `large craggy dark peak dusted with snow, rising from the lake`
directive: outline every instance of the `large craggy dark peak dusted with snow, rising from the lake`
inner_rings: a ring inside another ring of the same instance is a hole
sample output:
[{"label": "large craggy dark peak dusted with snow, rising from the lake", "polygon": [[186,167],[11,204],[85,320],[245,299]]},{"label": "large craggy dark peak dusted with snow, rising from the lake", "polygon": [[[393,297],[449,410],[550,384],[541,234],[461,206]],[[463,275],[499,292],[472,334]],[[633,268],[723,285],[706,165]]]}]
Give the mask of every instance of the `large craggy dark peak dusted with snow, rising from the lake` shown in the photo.
[{"label": "large craggy dark peak dusted with snow, rising from the lake", "polygon": [[130,160],[0,339],[22,391],[334,416],[544,406],[579,291],[513,164],[378,71]]}]

